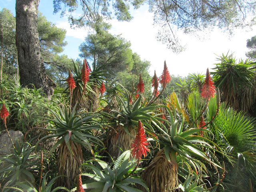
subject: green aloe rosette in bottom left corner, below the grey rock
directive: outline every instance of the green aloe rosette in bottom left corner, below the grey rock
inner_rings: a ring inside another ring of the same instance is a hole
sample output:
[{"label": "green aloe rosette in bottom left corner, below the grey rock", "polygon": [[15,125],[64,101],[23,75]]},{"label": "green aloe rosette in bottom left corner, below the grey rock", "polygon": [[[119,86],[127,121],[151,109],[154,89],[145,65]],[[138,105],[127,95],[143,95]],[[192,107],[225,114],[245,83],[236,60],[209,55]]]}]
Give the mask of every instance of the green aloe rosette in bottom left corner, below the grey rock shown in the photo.
[{"label": "green aloe rosette in bottom left corner, below the grey rock", "polygon": [[[36,146],[30,146],[29,143],[20,144],[15,141],[15,148],[12,152],[4,152],[6,155],[0,156],[0,182],[5,186],[14,186],[16,182],[30,181],[34,182],[34,174],[39,170],[39,156],[32,154]],[[8,191],[6,188],[2,191]]]}]

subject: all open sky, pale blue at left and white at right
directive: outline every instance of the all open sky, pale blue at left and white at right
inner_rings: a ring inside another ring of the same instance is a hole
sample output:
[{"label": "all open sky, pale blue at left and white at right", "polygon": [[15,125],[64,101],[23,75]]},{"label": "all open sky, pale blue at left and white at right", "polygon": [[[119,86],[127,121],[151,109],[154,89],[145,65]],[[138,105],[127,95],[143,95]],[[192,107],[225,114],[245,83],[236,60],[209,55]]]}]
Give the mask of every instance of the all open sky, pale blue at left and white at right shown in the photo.
[{"label": "all open sky, pale blue at left and white at right", "polygon": [[[15,0],[0,0],[0,10],[7,8],[15,16],[15,2]],[[38,9],[48,21],[59,28],[66,29],[68,45],[62,54],[72,59],[78,58],[80,53],[78,47],[84,42],[87,30],[71,29],[66,17],[61,18],[60,13],[53,14],[53,0],[41,0]],[[198,40],[194,36],[182,36],[186,50],[176,54],[156,40],[158,29],[153,26],[153,14],[148,12],[146,5],[138,10],[131,10],[131,14],[134,19],[130,22],[112,20],[110,32],[115,35],[121,34],[121,37],[131,42],[133,52],[139,54],[142,60],[151,62],[150,75],[152,76],[154,70],[157,76],[161,75],[165,60],[170,74],[188,76],[189,73],[205,74],[207,68],[211,72],[214,64],[218,63],[216,58],[222,54],[233,53],[237,60],[246,59],[245,53],[248,52],[246,40],[256,35],[256,28],[254,28],[248,32],[236,30],[231,38],[218,29],[208,32],[204,40]]]}]

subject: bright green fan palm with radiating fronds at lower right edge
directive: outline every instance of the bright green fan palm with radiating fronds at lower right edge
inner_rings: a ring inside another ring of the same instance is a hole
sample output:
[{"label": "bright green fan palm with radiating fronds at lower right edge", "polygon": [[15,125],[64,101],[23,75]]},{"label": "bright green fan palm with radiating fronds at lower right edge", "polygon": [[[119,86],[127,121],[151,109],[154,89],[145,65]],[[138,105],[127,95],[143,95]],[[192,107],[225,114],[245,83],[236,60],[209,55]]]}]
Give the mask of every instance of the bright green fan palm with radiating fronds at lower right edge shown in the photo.
[{"label": "bright green fan palm with radiating fronds at lower right edge", "polygon": [[[210,111],[216,108],[213,99],[209,102],[208,118]],[[214,132],[213,141],[230,157],[230,160],[224,159],[227,170],[223,184],[225,191],[248,191],[248,181],[256,180],[255,119],[222,103],[210,130]]]}]

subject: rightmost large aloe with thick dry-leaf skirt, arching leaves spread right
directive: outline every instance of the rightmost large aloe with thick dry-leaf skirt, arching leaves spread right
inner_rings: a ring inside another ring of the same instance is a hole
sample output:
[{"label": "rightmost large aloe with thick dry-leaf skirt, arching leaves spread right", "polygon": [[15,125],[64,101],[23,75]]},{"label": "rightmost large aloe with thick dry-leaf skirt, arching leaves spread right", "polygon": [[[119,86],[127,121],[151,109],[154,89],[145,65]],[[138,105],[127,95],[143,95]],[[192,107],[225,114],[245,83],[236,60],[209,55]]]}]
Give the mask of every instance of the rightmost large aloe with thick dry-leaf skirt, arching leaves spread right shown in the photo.
[{"label": "rightmost large aloe with thick dry-leaf skirt, arching leaves spread right", "polygon": [[181,114],[180,118],[176,118],[174,109],[166,109],[167,119],[159,118],[165,126],[155,125],[156,137],[152,138],[160,144],[160,151],[142,173],[142,179],[151,192],[170,192],[178,187],[178,163],[187,166],[189,170],[192,169],[194,174],[201,175],[207,172],[205,164],[210,164],[216,170],[221,168],[215,156],[215,152],[222,153],[220,148],[208,138],[198,135],[201,131],[212,133],[203,128],[186,130],[183,124],[184,116]]}]

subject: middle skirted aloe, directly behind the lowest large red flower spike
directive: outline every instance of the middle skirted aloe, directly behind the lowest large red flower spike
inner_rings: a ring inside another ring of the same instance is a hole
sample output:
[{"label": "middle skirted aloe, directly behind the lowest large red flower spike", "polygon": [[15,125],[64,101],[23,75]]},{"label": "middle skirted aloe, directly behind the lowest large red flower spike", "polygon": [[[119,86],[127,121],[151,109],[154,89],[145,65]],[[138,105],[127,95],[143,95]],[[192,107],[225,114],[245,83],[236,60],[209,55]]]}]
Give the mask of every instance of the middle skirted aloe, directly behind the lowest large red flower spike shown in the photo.
[{"label": "middle skirted aloe, directly behind the lowest large red flower spike", "polygon": [[147,133],[154,133],[154,129],[150,124],[156,120],[152,114],[157,110],[158,105],[151,104],[146,106],[147,101],[142,102],[141,95],[130,104],[129,96],[126,93],[126,98],[116,96],[120,101],[120,110],[112,109],[110,113],[103,112],[109,120],[111,126],[107,132],[108,152],[113,158],[118,158],[121,151],[126,151],[131,148],[131,144],[136,135],[136,127],[138,122],[147,128]]}]

